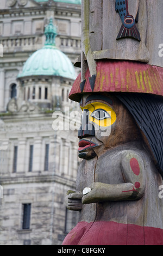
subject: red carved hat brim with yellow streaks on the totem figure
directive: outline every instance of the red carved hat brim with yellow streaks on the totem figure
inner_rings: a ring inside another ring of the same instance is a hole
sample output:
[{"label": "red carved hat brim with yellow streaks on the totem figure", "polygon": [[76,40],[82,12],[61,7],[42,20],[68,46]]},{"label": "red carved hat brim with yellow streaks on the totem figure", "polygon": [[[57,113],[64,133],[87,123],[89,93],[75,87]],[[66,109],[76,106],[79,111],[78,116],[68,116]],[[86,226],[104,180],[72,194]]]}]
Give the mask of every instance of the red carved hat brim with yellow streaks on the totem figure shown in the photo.
[{"label": "red carved hat brim with yellow streaks on the totem figure", "polygon": [[[83,93],[122,92],[147,93],[163,96],[163,68],[140,62],[98,60],[96,80],[90,82],[87,69],[85,81],[81,74],[74,82],[70,99],[80,102]],[[82,83],[81,83],[82,82]]]}]

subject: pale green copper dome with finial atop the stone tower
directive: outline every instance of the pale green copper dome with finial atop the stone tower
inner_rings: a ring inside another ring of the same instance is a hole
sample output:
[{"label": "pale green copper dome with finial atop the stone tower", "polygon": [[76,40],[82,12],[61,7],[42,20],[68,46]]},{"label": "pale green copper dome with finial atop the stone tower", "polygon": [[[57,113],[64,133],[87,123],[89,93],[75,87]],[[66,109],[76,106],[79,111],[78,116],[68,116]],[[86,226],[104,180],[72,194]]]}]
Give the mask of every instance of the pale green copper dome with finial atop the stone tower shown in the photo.
[{"label": "pale green copper dome with finial atop the stone tower", "polygon": [[45,46],[30,56],[23,66],[18,78],[29,76],[61,76],[76,79],[71,60],[55,47],[56,28],[51,19],[45,28]]}]

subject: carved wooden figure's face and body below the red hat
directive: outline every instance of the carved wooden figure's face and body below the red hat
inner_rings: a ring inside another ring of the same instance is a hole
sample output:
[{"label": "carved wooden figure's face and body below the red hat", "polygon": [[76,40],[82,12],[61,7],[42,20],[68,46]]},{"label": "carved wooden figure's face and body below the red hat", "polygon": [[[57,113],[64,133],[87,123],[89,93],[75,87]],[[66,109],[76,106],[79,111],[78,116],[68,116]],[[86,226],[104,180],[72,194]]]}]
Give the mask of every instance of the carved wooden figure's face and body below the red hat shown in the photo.
[{"label": "carved wooden figure's face and body below the red hat", "polygon": [[[96,118],[91,119],[90,113],[87,123],[93,123],[95,133],[80,137],[79,147],[82,141],[90,146],[79,148],[84,160],[78,170],[76,193],[81,196],[85,187],[91,191],[80,197],[79,223],[63,244],[163,245],[162,177],[142,137],[141,124],[136,125],[134,115],[116,95],[84,95],[81,107],[90,112],[91,108],[93,112],[110,108],[111,133],[106,125],[103,136],[102,121],[97,129]],[[71,197],[73,193],[69,205]],[[76,210],[76,205],[71,204],[71,209]]]}]

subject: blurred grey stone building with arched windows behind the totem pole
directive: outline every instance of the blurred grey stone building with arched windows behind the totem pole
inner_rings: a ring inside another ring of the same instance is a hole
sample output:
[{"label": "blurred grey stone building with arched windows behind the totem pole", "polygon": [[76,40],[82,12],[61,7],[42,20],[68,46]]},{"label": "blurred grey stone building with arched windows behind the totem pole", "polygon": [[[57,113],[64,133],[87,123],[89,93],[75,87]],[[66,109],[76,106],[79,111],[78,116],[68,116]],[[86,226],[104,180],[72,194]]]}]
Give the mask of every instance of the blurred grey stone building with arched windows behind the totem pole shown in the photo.
[{"label": "blurred grey stone building with arched windows behind the totem pole", "polygon": [[[69,128],[79,106],[68,93],[79,72],[72,63],[80,54],[81,5],[1,2],[0,245],[61,245],[78,221],[65,194],[79,161],[77,130]],[[55,129],[57,120],[63,129]]]}]

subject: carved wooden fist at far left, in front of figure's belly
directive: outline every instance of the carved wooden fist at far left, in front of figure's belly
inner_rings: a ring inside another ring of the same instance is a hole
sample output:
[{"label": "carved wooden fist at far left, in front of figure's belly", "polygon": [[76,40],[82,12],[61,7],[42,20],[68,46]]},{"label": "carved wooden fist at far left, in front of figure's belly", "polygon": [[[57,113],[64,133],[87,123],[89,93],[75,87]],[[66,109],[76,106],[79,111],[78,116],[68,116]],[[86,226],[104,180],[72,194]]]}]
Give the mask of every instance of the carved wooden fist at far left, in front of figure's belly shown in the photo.
[{"label": "carved wooden fist at far left, in front of figure's belly", "polygon": [[82,192],[68,190],[65,199],[67,209],[71,211],[82,210],[82,197]]}]

